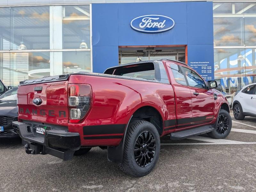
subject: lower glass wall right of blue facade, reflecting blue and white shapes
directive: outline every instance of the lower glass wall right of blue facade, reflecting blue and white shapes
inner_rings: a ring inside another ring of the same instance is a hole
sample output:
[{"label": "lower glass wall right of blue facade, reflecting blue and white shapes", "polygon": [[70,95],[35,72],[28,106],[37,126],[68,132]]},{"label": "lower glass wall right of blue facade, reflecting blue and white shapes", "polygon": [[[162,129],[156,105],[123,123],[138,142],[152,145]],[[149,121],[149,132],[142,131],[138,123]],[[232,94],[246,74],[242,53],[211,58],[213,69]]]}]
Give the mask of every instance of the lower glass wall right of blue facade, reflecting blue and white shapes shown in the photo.
[{"label": "lower glass wall right of blue facade, reflecting blue and white shapes", "polygon": [[255,83],[255,49],[215,49],[214,75],[224,92]]}]

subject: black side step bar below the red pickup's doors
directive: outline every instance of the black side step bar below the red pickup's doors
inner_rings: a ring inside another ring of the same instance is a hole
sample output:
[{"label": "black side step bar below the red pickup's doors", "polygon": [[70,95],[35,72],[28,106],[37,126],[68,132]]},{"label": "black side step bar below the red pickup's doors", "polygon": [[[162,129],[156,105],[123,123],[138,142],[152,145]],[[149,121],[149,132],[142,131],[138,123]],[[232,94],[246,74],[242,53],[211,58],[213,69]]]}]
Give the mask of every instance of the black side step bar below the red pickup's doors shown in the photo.
[{"label": "black side step bar below the red pickup's doors", "polygon": [[174,132],[170,134],[170,139],[171,140],[182,140],[188,137],[193,137],[196,135],[202,135],[204,133],[208,133],[213,131],[215,128],[212,125],[205,125],[202,127],[196,127],[193,129],[188,129],[185,131],[180,131],[180,132]]}]

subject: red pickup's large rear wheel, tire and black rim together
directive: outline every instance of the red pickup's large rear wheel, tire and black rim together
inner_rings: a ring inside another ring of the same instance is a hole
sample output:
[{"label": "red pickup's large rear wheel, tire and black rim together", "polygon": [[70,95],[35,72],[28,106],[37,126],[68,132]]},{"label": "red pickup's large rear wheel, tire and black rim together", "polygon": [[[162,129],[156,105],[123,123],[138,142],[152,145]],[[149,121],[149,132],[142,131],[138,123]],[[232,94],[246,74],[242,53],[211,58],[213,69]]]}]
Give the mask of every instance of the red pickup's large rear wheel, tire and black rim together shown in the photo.
[{"label": "red pickup's large rear wheel, tire and black rim together", "polygon": [[123,161],[119,166],[131,176],[145,176],[156,166],[159,152],[160,137],[156,127],[148,121],[133,121],[126,133]]}]

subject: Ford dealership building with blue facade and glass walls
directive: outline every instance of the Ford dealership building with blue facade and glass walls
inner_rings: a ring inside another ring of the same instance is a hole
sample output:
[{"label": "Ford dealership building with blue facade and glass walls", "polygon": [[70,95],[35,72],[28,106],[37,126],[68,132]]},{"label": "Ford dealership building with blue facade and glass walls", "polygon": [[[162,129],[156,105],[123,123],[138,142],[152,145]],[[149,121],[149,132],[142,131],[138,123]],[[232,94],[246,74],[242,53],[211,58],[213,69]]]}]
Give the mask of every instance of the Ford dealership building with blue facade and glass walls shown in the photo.
[{"label": "Ford dealership building with blue facade and glass walls", "polygon": [[256,82],[256,1],[2,0],[0,79],[186,62],[233,93]]}]

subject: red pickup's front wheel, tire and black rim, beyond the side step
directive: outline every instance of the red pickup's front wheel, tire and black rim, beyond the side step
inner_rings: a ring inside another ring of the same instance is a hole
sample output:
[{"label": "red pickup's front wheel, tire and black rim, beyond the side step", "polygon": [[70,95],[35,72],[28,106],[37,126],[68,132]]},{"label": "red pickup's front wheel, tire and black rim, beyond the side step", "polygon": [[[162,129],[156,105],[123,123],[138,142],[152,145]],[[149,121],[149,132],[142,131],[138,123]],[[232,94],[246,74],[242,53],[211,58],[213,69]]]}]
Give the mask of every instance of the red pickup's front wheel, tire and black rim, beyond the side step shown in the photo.
[{"label": "red pickup's front wheel, tire and black rim, beyond the side step", "polygon": [[207,134],[214,139],[226,138],[232,128],[232,119],[228,111],[220,109],[217,122],[214,125],[216,126],[216,129]]}]

